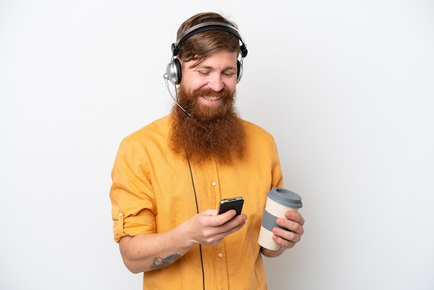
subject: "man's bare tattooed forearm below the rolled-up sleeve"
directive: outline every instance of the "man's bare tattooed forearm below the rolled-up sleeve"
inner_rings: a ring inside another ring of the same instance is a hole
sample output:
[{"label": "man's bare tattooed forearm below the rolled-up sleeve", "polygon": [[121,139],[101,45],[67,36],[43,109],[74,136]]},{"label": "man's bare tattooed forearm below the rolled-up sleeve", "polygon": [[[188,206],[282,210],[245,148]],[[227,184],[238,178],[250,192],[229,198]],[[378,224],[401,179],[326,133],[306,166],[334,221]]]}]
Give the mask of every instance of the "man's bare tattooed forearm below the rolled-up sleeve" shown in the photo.
[{"label": "man's bare tattooed forearm below the rolled-up sleeve", "polygon": [[132,273],[168,266],[194,245],[192,241],[186,239],[182,227],[157,234],[123,237],[119,241],[123,262]]}]

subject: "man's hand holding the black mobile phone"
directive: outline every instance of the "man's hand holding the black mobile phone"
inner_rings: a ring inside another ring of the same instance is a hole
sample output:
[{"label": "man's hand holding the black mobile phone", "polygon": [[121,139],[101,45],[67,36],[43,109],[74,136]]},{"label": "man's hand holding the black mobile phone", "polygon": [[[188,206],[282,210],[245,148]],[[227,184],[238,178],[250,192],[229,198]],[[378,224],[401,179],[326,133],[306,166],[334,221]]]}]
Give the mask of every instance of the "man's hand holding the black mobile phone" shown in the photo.
[{"label": "man's hand holding the black mobile phone", "polygon": [[216,210],[206,210],[186,222],[186,231],[193,243],[216,246],[227,235],[240,230],[245,225],[247,216],[245,214],[235,216],[235,214],[235,210],[218,215]]}]

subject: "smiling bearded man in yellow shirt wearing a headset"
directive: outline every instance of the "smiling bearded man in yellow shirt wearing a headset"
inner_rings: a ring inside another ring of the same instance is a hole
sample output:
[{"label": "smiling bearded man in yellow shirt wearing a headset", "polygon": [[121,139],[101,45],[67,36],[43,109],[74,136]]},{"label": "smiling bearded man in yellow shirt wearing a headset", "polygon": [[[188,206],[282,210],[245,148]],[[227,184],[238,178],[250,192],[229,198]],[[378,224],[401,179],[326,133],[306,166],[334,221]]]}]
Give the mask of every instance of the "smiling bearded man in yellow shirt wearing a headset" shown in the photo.
[{"label": "smiling bearded man in yellow shirt wearing a headset", "polygon": [[[257,244],[266,193],[283,179],[272,136],[234,108],[247,48],[212,12],[187,19],[177,37],[165,75],[177,103],[125,137],[114,162],[114,239],[125,266],[144,272],[144,289],[267,289],[261,255],[292,248],[304,219],[277,219],[288,229],[273,229],[279,250]],[[243,213],[217,214],[235,196]]]}]

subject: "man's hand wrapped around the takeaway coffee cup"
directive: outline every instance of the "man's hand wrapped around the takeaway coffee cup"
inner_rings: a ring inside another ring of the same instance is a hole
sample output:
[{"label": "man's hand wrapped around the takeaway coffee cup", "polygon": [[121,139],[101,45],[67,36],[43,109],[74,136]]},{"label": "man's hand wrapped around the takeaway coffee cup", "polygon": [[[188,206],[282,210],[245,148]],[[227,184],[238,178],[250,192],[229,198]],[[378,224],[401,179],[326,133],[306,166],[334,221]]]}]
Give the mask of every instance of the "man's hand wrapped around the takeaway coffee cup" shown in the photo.
[{"label": "man's hand wrapped around the takeaway coffee cup", "polygon": [[279,244],[281,248],[293,248],[300,239],[302,239],[302,234],[304,233],[304,219],[303,216],[298,212],[285,212],[286,219],[278,218],[276,223],[282,228],[288,230],[283,230],[281,228],[273,228],[272,233],[274,234],[272,239]]}]

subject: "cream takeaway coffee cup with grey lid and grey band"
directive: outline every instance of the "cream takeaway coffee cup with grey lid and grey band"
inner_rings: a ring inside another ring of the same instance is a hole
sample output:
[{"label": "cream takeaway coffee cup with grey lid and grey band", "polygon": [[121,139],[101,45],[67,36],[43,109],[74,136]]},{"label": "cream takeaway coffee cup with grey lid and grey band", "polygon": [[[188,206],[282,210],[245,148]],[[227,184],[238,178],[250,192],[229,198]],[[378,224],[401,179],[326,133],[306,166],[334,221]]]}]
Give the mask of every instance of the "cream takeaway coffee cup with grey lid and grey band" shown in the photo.
[{"label": "cream takeaway coffee cup with grey lid and grey band", "polygon": [[268,191],[258,244],[268,250],[278,250],[279,245],[272,239],[272,228],[281,228],[277,225],[276,219],[279,217],[286,219],[285,212],[288,210],[298,212],[301,207],[302,198],[293,191],[281,187],[274,187]]}]

